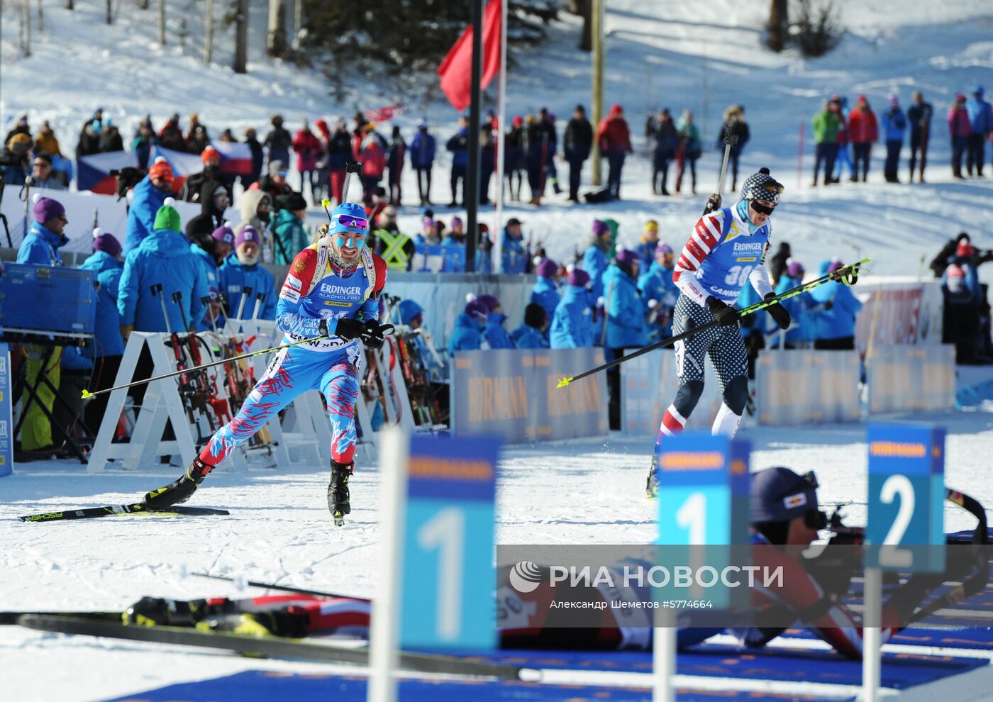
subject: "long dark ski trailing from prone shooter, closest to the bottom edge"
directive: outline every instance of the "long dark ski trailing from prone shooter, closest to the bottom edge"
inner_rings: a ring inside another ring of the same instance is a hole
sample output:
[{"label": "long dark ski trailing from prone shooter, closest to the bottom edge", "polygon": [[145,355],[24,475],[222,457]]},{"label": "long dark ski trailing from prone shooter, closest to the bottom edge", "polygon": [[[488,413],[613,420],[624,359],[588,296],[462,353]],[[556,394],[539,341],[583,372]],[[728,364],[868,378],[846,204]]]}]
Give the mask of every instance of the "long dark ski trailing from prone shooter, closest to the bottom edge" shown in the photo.
[{"label": "long dark ski trailing from prone shooter, closest to the bottom edge", "polygon": [[[119,616],[119,615],[118,615]],[[327,643],[310,643],[298,638],[246,636],[230,632],[198,632],[182,627],[135,627],[122,623],[106,622],[79,617],[27,614],[17,623],[28,629],[42,632],[75,633],[88,636],[126,638],[134,641],[154,641],[174,645],[221,648],[249,655],[272,658],[299,658],[335,663],[368,665],[368,648],[336,646]],[[477,675],[507,680],[520,678],[521,668],[498,663],[485,663],[470,658],[434,653],[400,652],[399,666],[404,670],[426,673]]]}]

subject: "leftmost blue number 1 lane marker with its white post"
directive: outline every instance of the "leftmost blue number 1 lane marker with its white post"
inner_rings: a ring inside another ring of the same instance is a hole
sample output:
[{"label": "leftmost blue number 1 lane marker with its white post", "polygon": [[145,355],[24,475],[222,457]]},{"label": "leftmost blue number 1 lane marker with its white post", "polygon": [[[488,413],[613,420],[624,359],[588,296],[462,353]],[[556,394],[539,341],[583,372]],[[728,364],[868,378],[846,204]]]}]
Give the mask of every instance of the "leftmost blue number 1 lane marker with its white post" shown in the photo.
[{"label": "leftmost blue number 1 lane marker with its white post", "polygon": [[495,437],[382,432],[383,534],[368,699],[393,702],[397,645],[492,648]]}]

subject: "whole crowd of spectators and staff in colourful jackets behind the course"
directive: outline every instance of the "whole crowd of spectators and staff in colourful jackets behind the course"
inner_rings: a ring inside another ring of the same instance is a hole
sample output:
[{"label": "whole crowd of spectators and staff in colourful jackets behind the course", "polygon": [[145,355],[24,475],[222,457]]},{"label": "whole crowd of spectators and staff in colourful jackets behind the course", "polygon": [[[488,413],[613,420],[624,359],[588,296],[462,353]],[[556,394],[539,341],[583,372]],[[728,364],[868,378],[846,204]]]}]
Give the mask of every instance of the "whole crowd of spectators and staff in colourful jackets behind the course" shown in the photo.
[{"label": "whole crowd of spectators and staff in colourful jackets behind the course", "polygon": [[[910,179],[923,182],[932,106],[920,91],[904,111],[896,95],[877,120],[868,100],[860,95],[846,111],[844,97],[834,95],[813,118],[816,143],[813,185],[838,183],[847,167],[849,180],[864,182],[869,171],[872,145],[886,145],[884,175],[899,182],[900,154],[910,131]],[[275,281],[263,264],[289,264],[294,255],[312,242],[304,220],[310,202],[329,198],[341,200],[345,166],[352,160],[362,163],[359,174],[362,201],[369,218],[367,245],[381,255],[392,270],[440,270],[446,273],[466,269],[467,239],[476,237],[475,266],[482,273],[533,273],[536,282],[530,304],[522,319],[508,321],[497,297],[479,294],[469,300],[455,320],[448,339],[450,353],[476,349],[574,349],[603,347],[608,358],[624,354],[670,335],[672,311],[678,291],[672,270],[681,237],[667,243],[659,236],[654,220],[644,223],[637,245],[618,245],[619,224],[610,218],[592,220],[589,240],[571,261],[551,259],[540,242],[525,238],[524,222],[517,217],[505,221],[501,231],[491,232],[485,224],[475,232],[466,231],[465,222],[453,215],[448,222],[436,216],[431,199],[433,165],[438,145],[427,123],[420,123],[408,144],[399,127],[387,139],[377,125],[355,115],[355,125],[347,128],[342,118],[326,122],[317,119],[313,128],[304,121],[295,133],[284,127],[280,115],[270,120],[271,129],[259,141],[247,129],[244,142],[252,154],[251,173],[242,177],[243,192],[237,204],[239,218],[231,222],[225,211],[232,203],[235,182],[221,172],[221,155],[213,146],[211,131],[197,114],[186,129],[180,116],[172,115],[155,130],[150,117],[142,120],[130,142],[136,152],[139,170],[133,183],[127,225],[124,232],[93,232],[92,255],[81,265],[91,270],[99,282],[96,338],[81,349],[65,349],[60,364],[89,370],[97,388],[109,386],[117,371],[124,345],[133,332],[166,332],[189,329],[208,331],[222,328],[228,319],[275,318]],[[971,97],[956,95],[947,112],[947,128],[952,145],[952,173],[955,178],[983,176],[984,148],[993,131],[993,113],[977,85]],[[468,124],[460,118],[457,131],[445,142],[452,154],[449,207],[465,203],[468,167]],[[490,176],[495,170],[496,138],[503,133],[493,113],[487,115],[481,133],[483,187],[481,202],[488,202]],[[659,196],[680,193],[685,185],[696,193],[696,161],[702,153],[700,131],[693,114],[684,110],[674,120],[668,109],[649,118],[645,135],[651,145],[652,191]],[[558,135],[555,115],[541,109],[535,115],[515,116],[505,131],[505,178],[510,199],[521,200],[525,179],[529,203],[539,206],[548,190],[560,192],[555,156]],[[737,187],[739,158],[750,138],[745,108],[732,105],[724,114],[718,145],[730,144],[729,180]],[[631,133],[624,109],[614,105],[609,115],[594,126],[583,105],[576,105],[563,134],[563,154],[569,165],[568,199],[579,202],[579,187],[585,162],[593,144],[608,162],[608,184],[588,194],[589,202],[606,202],[621,197],[622,172],[633,152]],[[221,131],[220,142],[232,142],[229,129]],[[59,249],[69,239],[65,229],[68,217],[59,202],[65,191],[66,171],[56,169],[66,160],[60,142],[46,122],[33,135],[26,117],[18,120],[4,139],[3,167],[8,185],[32,179],[45,188],[44,197],[33,205],[33,219],[18,250],[19,263],[42,266],[62,265]],[[198,154],[203,170],[177,188],[173,167],[164,158],[152,158],[152,147],[161,145],[176,151]],[[851,150],[849,151],[849,146]],[[122,137],[100,109],[82,125],[76,145],[77,157],[123,150]],[[402,203],[401,173],[409,159],[416,171],[421,230],[400,231],[398,209]],[[301,192],[287,182],[290,164],[301,179]],[[674,182],[669,169],[674,166]],[[670,187],[671,186],[671,187]],[[175,200],[198,203],[199,215],[185,226]],[[499,257],[494,259],[499,241]],[[978,251],[964,232],[948,242],[935,257],[931,268],[940,278],[945,300],[945,340],[956,346],[958,362],[993,361],[990,344],[990,308],[986,291],[977,278],[978,266],[993,259],[993,251]],[[440,263],[439,263],[440,261]],[[788,244],[772,256],[771,273],[777,292],[799,285],[806,267],[791,255]],[[831,272],[840,261],[819,263],[818,273]],[[163,314],[161,302],[150,292],[161,285],[166,300],[180,293],[177,304]],[[242,296],[251,288],[252,298]],[[746,286],[739,305],[756,302]],[[418,324],[423,310],[408,301],[408,312],[417,307]],[[861,308],[847,286],[822,285],[809,293],[784,301],[794,320],[785,333],[773,332],[765,314],[749,317],[742,326],[750,354],[764,348],[822,350],[854,349],[855,321]],[[410,314],[407,315],[411,317]],[[417,316],[417,315],[413,315]],[[519,323],[519,324],[518,324]],[[406,324],[406,323],[405,323]],[[58,370],[34,368],[50,373],[58,385]],[[617,376],[611,379],[612,424],[617,426]],[[91,428],[98,424],[102,405],[87,409]],[[25,451],[45,450],[52,444],[44,416],[27,421],[23,434]]]}]

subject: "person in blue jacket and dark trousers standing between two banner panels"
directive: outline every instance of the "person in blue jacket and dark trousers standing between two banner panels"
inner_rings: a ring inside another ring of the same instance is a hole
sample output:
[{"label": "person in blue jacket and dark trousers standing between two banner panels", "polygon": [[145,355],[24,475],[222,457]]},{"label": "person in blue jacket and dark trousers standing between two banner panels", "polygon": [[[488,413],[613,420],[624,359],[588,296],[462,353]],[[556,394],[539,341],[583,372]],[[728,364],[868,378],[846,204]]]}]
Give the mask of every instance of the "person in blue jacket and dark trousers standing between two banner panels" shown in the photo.
[{"label": "person in blue jacket and dark trousers standing between two banner panels", "polygon": [[[615,262],[604,274],[604,287],[609,289],[607,311],[607,339],[605,355],[609,360],[624,355],[625,349],[635,349],[648,343],[644,327],[644,304],[638,295],[638,252],[631,249],[618,251]],[[607,371],[610,393],[608,416],[611,429],[621,429],[621,369],[615,366]]]}]

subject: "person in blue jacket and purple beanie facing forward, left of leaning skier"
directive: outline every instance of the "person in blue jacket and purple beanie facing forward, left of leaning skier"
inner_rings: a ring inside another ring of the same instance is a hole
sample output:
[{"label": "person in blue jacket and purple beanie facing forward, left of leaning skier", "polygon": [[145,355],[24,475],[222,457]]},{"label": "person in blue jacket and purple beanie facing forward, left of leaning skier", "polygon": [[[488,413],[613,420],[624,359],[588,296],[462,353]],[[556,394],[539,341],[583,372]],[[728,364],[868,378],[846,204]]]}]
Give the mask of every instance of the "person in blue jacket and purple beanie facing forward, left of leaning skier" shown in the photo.
[{"label": "person in blue jacket and purple beanie facing forward, left of leaning skier", "polygon": [[[237,317],[241,309],[241,291],[251,288],[251,297],[245,300],[239,319],[251,319],[258,306],[260,320],[276,319],[276,285],[272,273],[258,264],[262,250],[262,236],[254,226],[248,225],[234,237],[234,251],[227,254],[220,264],[220,290],[227,298],[227,316]],[[258,296],[263,295],[261,302]]]}]

